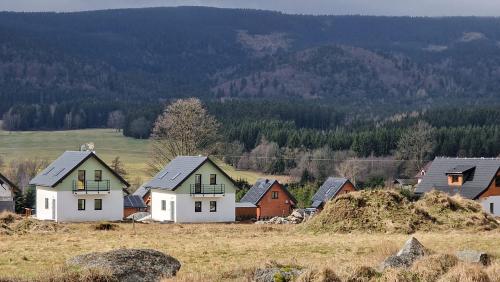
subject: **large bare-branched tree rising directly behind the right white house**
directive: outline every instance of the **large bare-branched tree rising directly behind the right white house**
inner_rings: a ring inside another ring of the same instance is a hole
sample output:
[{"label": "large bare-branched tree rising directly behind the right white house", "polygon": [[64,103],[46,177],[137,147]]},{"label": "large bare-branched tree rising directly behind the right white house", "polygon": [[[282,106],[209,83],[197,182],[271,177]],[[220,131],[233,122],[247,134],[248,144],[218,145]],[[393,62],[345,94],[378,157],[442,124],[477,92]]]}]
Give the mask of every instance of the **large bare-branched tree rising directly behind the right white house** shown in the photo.
[{"label": "large bare-branched tree rising directly behind the right white house", "polygon": [[169,105],[155,122],[148,172],[151,175],[179,155],[209,154],[219,139],[219,123],[199,99]]}]

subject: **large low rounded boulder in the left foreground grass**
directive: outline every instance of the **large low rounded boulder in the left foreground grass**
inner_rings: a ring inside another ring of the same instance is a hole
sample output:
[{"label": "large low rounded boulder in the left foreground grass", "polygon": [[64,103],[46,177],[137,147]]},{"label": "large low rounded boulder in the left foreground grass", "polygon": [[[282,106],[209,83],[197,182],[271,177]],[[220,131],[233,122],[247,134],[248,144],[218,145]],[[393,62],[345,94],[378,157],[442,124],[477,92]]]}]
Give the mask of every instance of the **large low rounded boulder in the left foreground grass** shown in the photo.
[{"label": "large low rounded boulder in the left foreground grass", "polygon": [[114,278],[125,282],[160,281],[175,276],[180,262],[164,253],[150,249],[120,249],[89,253],[67,261],[70,266],[109,270]]}]

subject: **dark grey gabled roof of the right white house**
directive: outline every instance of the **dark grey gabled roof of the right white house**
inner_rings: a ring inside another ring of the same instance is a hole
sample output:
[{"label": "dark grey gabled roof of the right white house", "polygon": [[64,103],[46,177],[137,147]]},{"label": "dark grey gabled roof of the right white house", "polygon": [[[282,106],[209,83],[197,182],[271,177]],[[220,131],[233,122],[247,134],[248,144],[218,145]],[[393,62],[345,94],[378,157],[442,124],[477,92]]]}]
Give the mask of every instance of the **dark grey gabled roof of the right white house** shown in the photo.
[{"label": "dark grey gabled roof of the right white house", "polygon": [[175,190],[184,181],[198,170],[203,164],[210,162],[223,175],[231,181],[232,178],[227,175],[218,165],[210,158],[202,156],[178,156],[173,159],[163,170],[153,177],[148,183],[144,184],[144,188]]}]

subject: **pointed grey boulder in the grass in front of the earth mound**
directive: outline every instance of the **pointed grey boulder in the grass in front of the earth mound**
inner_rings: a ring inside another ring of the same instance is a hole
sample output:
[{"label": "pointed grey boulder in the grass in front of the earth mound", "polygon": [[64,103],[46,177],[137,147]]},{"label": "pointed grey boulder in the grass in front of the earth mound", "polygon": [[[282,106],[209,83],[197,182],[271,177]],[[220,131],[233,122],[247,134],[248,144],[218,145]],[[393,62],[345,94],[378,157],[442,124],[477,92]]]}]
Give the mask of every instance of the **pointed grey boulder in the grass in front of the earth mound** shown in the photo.
[{"label": "pointed grey boulder in the grass in front of the earth mound", "polygon": [[386,268],[408,268],[419,258],[426,253],[425,247],[415,238],[411,237],[406,241],[403,248],[396,255],[390,256],[382,262],[379,269],[381,271]]}]

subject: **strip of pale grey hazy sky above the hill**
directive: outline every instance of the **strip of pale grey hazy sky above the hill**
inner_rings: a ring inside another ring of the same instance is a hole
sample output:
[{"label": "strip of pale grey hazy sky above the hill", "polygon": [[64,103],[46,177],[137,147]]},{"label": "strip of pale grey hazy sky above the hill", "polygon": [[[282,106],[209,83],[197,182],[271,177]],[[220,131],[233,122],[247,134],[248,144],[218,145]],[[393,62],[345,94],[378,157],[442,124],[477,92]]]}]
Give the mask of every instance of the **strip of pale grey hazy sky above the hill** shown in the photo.
[{"label": "strip of pale grey hazy sky above the hill", "polygon": [[7,11],[82,11],[157,6],[213,6],[301,14],[500,16],[500,0],[0,0]]}]

